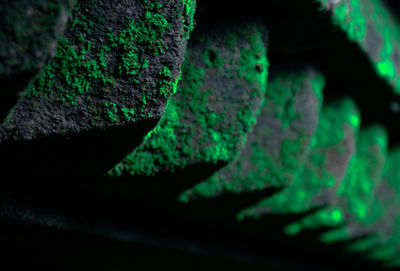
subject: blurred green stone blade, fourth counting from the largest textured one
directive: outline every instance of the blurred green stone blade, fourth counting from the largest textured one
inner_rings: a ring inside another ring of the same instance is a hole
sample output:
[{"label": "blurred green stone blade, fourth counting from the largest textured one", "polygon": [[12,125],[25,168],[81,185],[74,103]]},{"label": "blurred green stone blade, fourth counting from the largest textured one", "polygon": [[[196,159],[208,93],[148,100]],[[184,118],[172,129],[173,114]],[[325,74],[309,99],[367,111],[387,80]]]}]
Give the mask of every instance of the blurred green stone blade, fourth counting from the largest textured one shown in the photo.
[{"label": "blurred green stone blade, fourth counting from the largest textured one", "polygon": [[[359,119],[358,110],[349,99],[325,107],[307,157],[292,183],[242,211],[238,218],[259,217],[267,213],[302,213],[333,202],[355,152],[358,129],[358,125],[353,126],[355,118]],[[332,210],[330,217],[335,223],[343,219],[338,209]],[[300,232],[299,226],[289,226],[288,229],[298,229],[289,232]]]}]

